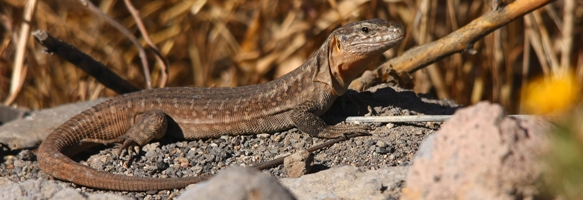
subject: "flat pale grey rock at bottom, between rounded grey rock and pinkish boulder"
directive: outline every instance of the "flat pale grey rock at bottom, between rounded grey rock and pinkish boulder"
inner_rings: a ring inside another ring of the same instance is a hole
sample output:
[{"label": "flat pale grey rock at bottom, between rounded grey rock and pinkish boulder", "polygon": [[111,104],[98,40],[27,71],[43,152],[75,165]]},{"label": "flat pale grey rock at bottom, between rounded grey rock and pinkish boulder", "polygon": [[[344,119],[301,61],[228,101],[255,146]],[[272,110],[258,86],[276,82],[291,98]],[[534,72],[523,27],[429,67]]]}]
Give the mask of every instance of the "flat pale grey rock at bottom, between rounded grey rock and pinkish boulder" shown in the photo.
[{"label": "flat pale grey rock at bottom, between rounded grey rock and pinkish boulder", "polygon": [[342,166],[279,181],[298,199],[388,199],[398,194],[408,169],[389,167],[364,172]]}]

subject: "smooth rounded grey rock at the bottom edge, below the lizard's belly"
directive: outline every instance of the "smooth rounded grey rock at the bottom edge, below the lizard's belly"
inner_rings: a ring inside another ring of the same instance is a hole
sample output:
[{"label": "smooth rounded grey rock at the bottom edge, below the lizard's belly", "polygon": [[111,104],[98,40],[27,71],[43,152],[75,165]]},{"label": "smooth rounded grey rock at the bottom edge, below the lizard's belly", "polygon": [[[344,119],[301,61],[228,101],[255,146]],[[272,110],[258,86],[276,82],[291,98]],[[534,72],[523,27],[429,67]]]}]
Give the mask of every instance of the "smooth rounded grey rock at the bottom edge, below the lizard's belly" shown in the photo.
[{"label": "smooth rounded grey rock at the bottom edge, below the lizard's belly", "polygon": [[271,176],[252,168],[229,167],[208,181],[186,188],[181,199],[295,199]]}]

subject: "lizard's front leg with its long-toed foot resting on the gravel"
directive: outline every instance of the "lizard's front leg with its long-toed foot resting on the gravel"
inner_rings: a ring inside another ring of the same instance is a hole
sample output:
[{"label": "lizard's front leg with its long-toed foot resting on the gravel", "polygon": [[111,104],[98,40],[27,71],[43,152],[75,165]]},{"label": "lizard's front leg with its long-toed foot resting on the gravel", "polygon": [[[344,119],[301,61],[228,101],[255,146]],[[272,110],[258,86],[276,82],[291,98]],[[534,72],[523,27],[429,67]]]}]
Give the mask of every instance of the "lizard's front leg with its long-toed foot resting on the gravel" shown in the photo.
[{"label": "lizard's front leg with its long-toed foot resting on the gravel", "polygon": [[368,135],[370,127],[364,124],[328,125],[322,118],[314,114],[318,104],[306,101],[292,110],[290,117],[294,125],[302,132],[319,138],[338,138],[347,135]]}]

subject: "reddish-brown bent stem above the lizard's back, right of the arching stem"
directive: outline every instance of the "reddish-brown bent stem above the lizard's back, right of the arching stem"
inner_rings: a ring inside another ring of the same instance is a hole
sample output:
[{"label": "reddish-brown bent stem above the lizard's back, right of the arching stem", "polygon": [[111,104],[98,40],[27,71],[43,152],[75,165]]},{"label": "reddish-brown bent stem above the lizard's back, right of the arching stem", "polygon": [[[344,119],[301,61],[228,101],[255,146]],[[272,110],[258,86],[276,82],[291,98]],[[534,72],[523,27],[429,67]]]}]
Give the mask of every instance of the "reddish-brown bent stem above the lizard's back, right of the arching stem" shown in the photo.
[{"label": "reddish-brown bent stem above the lizard's back, right of the arching stem", "polygon": [[150,34],[148,34],[148,30],[146,30],[144,22],[142,22],[142,18],[140,18],[140,12],[136,10],[136,8],[134,7],[134,5],[132,5],[132,2],[130,0],[124,0],[124,3],[126,4],[126,7],[132,14],[134,20],[136,20],[136,24],[138,25],[140,33],[142,33],[144,41],[146,41],[146,44],[148,44],[148,46],[152,48],[152,51],[156,55],[156,60],[160,65],[160,87],[163,88],[166,86],[166,83],[168,83],[168,60],[164,58],[164,56],[162,56],[162,53],[160,53],[158,47],[156,47],[154,42],[152,42],[152,39],[150,39]]}]

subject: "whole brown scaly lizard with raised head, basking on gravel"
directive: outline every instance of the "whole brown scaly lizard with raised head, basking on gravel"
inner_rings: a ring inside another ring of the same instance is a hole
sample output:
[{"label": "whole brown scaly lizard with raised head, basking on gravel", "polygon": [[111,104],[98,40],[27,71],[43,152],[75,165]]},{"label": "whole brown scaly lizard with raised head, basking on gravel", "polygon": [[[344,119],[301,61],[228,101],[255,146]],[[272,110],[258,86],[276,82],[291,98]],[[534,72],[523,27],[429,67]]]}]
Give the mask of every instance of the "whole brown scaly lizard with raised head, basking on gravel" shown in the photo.
[{"label": "whole brown scaly lizard with raised head, basking on gravel", "polygon": [[[148,191],[183,188],[201,177],[130,177],[73,161],[96,143],[142,146],[168,134],[181,139],[273,133],[297,127],[320,138],[366,134],[362,124],[328,125],[319,116],[343,95],[370,61],[400,43],[405,29],[372,19],[334,30],[314,55],[271,82],[232,88],[171,87],[124,94],[98,104],[55,129],[40,145],[40,168],[92,188]],[[120,150],[121,151],[121,150]]]}]

